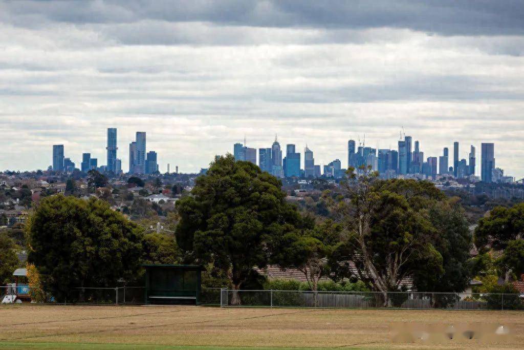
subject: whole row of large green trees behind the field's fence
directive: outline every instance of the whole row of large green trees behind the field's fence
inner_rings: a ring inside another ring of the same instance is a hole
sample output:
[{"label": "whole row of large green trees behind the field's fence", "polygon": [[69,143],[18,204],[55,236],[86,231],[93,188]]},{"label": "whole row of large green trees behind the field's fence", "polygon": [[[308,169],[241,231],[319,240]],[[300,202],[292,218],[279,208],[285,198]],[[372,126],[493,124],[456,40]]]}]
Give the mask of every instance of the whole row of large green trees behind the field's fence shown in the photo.
[{"label": "whole row of large green trees behind the field's fence", "polygon": [[[174,238],[144,234],[103,200],[47,197],[26,226],[29,261],[57,298],[78,287],[137,283],[145,262],[202,264],[208,287],[264,284],[257,268],[275,264],[301,271],[313,291],[332,281],[383,293],[462,292],[493,266],[486,254],[499,248],[511,253],[497,269],[519,271],[524,225],[499,239],[486,219],[475,238],[482,258],[470,259],[474,238],[458,198],[430,182],[383,181],[363,171],[349,169],[340,193],[324,192],[325,219],[288,203],[280,181],[258,166],[220,157],[177,202]],[[509,221],[524,220],[522,212],[513,215]]]}]

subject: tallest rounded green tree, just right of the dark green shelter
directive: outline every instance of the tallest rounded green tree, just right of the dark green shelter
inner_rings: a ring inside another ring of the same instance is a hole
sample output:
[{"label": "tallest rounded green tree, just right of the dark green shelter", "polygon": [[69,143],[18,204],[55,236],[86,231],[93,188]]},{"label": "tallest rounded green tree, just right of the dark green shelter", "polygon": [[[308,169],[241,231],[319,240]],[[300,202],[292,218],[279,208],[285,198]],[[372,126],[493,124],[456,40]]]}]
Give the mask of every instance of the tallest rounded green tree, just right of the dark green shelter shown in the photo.
[{"label": "tallest rounded green tree, just right of the dark green shelter", "polygon": [[301,223],[280,187],[253,163],[235,162],[231,154],[217,158],[196,179],[192,195],[177,201],[180,248],[192,251],[196,261],[212,262],[231,287],[241,289],[254,267],[267,266],[274,237]]}]

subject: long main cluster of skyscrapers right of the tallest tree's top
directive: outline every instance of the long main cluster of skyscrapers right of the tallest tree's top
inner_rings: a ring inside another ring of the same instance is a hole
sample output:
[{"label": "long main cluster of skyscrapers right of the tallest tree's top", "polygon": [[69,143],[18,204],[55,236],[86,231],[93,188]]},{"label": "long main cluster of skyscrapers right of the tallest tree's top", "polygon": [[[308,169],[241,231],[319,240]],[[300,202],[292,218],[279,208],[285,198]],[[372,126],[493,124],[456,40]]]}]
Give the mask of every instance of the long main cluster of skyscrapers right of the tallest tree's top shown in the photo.
[{"label": "long main cluster of skyscrapers right of the tallest tree's top", "polygon": [[[455,178],[469,178],[476,181],[475,147],[472,145],[468,160],[459,159],[459,142],[453,144],[453,165],[450,166],[449,149],[444,147],[442,156],[426,157],[420,150],[420,142],[414,142],[411,136],[403,135],[398,141],[398,150],[375,149],[360,143],[357,147],[355,140],[347,143],[347,164],[355,169],[361,166],[370,166],[383,178],[429,178],[436,179],[438,175],[453,176]],[[233,146],[236,160],[257,163],[256,149],[244,144],[236,143]],[[282,151],[277,137],[270,148],[258,150],[258,165],[277,177],[320,177],[321,167],[315,165],[313,152],[306,146],[304,150],[304,168],[300,167],[300,153],[296,152],[294,144],[286,145],[286,155],[282,159]],[[345,169],[341,161],[336,159],[323,166],[324,177],[342,178]],[[482,144],[481,180],[484,182],[504,181],[504,172],[495,168],[494,144]],[[507,180],[507,179],[506,179]]]}]

